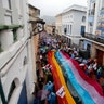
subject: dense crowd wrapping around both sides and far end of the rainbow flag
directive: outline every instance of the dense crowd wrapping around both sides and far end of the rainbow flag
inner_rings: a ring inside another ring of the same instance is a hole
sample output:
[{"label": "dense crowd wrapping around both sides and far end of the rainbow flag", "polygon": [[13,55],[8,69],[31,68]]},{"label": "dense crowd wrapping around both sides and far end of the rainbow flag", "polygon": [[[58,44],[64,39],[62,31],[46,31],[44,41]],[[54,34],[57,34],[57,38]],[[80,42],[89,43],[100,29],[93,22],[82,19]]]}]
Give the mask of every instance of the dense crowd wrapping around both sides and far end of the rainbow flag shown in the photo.
[{"label": "dense crowd wrapping around both sides and far end of the rainbow flag", "polygon": [[79,55],[78,49],[70,48],[65,41],[42,32],[39,40],[39,51],[37,58],[37,83],[35,83],[34,104],[57,104],[52,78],[51,67],[48,64],[47,54],[50,50],[63,50],[72,58],[75,58],[80,68],[93,80],[100,82],[104,89],[104,67],[98,64],[98,58],[83,58]]}]

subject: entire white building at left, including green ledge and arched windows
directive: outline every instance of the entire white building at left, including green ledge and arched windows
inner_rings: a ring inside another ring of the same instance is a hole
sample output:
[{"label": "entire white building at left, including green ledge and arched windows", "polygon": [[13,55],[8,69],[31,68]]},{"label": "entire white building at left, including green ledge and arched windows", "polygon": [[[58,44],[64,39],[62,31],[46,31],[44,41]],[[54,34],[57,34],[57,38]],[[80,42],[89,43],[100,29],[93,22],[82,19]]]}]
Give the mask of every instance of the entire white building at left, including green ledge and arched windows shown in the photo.
[{"label": "entire white building at left, including green ledge and arched windows", "polygon": [[27,0],[0,0],[0,104],[30,104],[35,73]]}]

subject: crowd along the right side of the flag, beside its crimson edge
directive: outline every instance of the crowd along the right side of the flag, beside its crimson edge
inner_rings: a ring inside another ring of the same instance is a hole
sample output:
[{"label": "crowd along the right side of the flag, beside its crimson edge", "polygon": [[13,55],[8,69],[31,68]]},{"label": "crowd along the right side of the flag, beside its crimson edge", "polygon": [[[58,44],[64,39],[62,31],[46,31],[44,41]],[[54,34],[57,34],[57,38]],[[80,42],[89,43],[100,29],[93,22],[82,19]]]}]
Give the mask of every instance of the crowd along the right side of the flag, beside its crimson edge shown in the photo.
[{"label": "crowd along the right side of the flag, beside its crimson edge", "polygon": [[79,63],[80,68],[93,80],[96,80],[104,89],[104,66],[100,65],[98,58],[83,58],[76,48],[69,48],[66,43],[64,50],[72,58]]}]

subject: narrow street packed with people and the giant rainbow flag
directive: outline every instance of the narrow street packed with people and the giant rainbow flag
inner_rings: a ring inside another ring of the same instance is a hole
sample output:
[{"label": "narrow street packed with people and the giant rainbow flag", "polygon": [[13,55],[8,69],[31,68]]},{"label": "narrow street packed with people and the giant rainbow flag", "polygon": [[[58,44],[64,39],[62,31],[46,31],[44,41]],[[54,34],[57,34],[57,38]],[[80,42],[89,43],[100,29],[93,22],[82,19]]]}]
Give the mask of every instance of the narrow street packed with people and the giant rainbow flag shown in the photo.
[{"label": "narrow street packed with people and the giant rainbow flag", "polygon": [[37,93],[41,83],[43,92],[35,94],[34,104],[37,100],[42,102],[39,104],[103,104],[103,72],[101,67],[94,69],[96,60],[83,58],[76,48],[60,41],[56,36],[40,34]]}]

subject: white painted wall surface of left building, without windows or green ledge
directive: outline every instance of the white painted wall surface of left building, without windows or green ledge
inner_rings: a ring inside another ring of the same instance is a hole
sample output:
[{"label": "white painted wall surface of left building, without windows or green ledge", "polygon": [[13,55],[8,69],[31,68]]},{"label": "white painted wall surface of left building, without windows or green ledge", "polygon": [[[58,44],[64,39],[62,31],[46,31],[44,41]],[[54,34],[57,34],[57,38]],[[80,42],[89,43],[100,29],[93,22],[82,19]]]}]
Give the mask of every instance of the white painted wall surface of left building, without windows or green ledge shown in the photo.
[{"label": "white painted wall surface of left building, without windows or green ledge", "polygon": [[[2,0],[0,3],[2,6],[0,6],[0,9],[3,11],[5,11],[5,9],[9,10],[8,3],[8,0]],[[27,0],[11,0],[11,3],[12,14],[10,10],[9,15],[13,18],[12,23],[11,20],[6,18],[8,16],[3,15],[3,12],[1,13],[1,11],[0,13],[2,14],[2,17],[0,18],[0,23],[2,23],[2,25],[5,25],[6,23],[6,25],[22,24],[24,27],[17,29],[18,40],[15,43],[13,42],[13,32],[11,29],[0,31],[0,41],[2,42],[2,48],[4,50],[2,53],[0,53],[0,76],[5,99],[8,99],[12,81],[16,80],[16,89],[14,90],[9,104],[17,104],[24,81],[26,81],[27,100],[28,104],[30,104],[32,102],[32,91],[35,88],[34,77],[36,76],[32,73],[35,68],[35,63],[32,63],[32,61],[35,62],[35,57],[32,55],[34,51],[31,52],[34,46],[31,46],[31,40],[27,39],[30,35],[28,31],[28,4]],[[20,21],[21,12],[22,15]],[[4,12],[4,14],[8,12]],[[24,66],[25,56],[27,57],[27,64]]]}]

